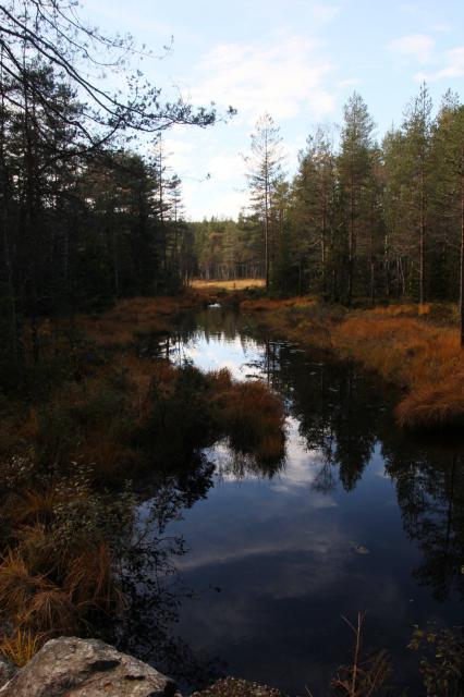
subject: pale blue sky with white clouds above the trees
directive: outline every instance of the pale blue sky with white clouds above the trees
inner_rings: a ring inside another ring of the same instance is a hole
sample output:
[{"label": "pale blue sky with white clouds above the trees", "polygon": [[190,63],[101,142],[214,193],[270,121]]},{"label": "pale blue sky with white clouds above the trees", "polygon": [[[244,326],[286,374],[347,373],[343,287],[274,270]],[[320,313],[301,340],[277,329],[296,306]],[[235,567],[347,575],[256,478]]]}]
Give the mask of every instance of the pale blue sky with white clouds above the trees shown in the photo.
[{"label": "pale blue sky with white clouds above the trees", "polygon": [[141,68],[167,99],[237,110],[207,130],[164,134],[192,220],[236,218],[246,206],[243,155],[264,112],[280,127],[292,175],[319,124],[337,142],[353,90],[379,139],[424,81],[436,107],[447,88],[464,98],[464,0],[83,0],[82,14],[151,49]]}]

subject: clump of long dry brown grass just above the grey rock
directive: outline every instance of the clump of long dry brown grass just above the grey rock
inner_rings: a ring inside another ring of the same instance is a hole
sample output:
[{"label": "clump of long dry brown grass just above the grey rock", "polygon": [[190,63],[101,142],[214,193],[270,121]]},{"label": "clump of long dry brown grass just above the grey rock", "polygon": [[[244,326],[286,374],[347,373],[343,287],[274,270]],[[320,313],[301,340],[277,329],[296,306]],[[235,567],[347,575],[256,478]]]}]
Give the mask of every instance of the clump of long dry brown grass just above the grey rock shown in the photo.
[{"label": "clump of long dry brown grass just above the grey rock", "polygon": [[2,615],[44,636],[78,632],[90,609],[107,612],[123,602],[109,543],[88,535],[60,543],[54,523],[16,528],[15,546],[0,560]]}]

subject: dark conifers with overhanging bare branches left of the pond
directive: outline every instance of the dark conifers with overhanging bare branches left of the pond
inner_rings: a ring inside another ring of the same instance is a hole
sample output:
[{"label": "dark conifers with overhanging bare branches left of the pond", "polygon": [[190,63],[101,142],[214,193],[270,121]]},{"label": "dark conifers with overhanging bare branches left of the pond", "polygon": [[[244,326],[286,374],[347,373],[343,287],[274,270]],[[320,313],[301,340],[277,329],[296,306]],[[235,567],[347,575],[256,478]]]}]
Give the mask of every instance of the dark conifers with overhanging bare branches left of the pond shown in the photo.
[{"label": "dark conifers with overhanging bare branches left of the pond", "polygon": [[[216,113],[182,98],[163,101],[131,70],[129,59],[138,56],[131,37],[89,28],[73,5],[11,2],[0,5],[0,331],[8,371],[23,363],[26,343],[39,360],[40,318],[179,291],[191,273],[193,240],[162,132],[207,126]],[[102,71],[124,87],[105,86]]]}]

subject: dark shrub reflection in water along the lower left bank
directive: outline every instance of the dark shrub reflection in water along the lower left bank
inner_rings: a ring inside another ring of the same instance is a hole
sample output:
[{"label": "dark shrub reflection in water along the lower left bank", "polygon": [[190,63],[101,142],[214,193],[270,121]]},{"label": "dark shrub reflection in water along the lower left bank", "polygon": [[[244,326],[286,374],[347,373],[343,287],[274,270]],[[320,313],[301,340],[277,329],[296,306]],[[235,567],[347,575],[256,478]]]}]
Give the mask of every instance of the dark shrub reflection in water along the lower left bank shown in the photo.
[{"label": "dark shrub reflection in water along the lower left bank", "polygon": [[187,552],[184,540],[182,536],[168,535],[167,526],[206,498],[213,470],[205,456],[198,456],[162,482],[146,485],[123,571],[125,610],[106,634],[121,650],[184,684],[198,686],[222,673],[219,661],[202,660],[175,634],[182,602],[193,594],[183,584],[175,563]]}]

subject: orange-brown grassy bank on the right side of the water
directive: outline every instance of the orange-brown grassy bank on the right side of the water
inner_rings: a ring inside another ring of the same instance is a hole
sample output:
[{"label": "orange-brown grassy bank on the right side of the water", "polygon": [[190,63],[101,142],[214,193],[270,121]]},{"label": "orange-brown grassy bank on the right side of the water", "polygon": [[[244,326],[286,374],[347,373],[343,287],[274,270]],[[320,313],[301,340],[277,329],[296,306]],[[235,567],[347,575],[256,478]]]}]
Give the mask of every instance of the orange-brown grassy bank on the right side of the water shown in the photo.
[{"label": "orange-brown grassy bank on the right side of the water", "polygon": [[244,301],[241,309],[306,346],[363,363],[398,384],[399,423],[412,429],[464,425],[464,352],[452,306],[347,310],[314,298]]}]

